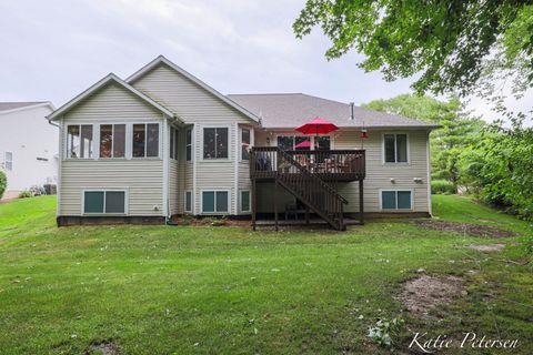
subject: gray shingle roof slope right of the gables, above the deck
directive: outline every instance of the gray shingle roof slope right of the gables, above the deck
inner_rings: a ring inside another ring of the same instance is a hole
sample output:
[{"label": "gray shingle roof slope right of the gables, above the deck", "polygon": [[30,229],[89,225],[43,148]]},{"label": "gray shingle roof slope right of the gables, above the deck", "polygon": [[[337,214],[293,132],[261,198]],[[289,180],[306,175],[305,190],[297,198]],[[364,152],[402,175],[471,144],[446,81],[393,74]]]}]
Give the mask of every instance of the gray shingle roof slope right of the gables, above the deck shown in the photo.
[{"label": "gray shingle roof slope right of the gables, above the deck", "polygon": [[340,128],[438,128],[434,123],[406,119],[401,115],[354,106],[350,120],[350,104],[303,93],[229,94],[228,98],[261,118],[264,128],[295,128],[315,116]]}]

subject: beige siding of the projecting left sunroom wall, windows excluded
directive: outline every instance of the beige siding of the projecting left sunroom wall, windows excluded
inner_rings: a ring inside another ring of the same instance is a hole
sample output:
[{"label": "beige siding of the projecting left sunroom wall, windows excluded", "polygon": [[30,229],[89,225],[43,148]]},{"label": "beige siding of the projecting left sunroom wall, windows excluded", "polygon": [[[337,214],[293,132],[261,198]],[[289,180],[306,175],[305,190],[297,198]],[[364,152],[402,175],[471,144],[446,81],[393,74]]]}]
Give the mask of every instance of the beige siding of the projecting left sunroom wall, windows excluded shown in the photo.
[{"label": "beige siding of the projecting left sunroom wall, windows excluded", "polygon": [[[129,215],[163,215],[163,161],[161,159],[64,159],[68,124],[148,122],[159,122],[162,125],[162,113],[113,83],[103,87],[66,113],[61,121],[59,215],[81,215],[82,191],[89,189],[127,189]],[[164,132],[162,126],[160,132]],[[159,141],[160,156],[163,156],[168,153],[163,151],[164,134],[160,133]],[[93,144],[98,142],[94,141]]]}]

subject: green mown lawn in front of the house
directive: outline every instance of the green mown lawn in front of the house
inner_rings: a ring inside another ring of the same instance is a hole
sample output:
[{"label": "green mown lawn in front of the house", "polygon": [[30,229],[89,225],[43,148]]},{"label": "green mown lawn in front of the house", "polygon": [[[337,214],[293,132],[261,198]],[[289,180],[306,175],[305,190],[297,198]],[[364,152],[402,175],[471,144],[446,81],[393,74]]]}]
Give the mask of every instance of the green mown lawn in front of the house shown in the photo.
[{"label": "green mown lawn in front of the house", "polygon": [[[86,354],[108,341],[120,354],[389,354],[368,327],[401,316],[396,349],[412,332],[476,332],[517,337],[512,354],[533,354],[532,266],[504,262],[523,260],[532,225],[466,197],[433,204],[441,220],[520,235],[464,237],[411,221],[342,233],[57,229],[53,197],[0,204],[0,353]],[[506,247],[462,247],[491,243]],[[432,321],[403,312],[394,295],[418,268],[464,277],[467,294]]]}]

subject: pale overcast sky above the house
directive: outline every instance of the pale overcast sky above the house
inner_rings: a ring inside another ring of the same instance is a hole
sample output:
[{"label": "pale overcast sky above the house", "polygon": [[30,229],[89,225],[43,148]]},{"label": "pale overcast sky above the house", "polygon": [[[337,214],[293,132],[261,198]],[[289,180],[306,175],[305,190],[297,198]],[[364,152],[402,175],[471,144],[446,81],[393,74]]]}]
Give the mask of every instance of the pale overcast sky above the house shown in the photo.
[{"label": "pale overcast sky above the house", "polygon": [[[304,92],[361,104],[411,91],[411,80],[358,69],[356,53],[328,62],[319,30],[296,40],[291,24],[304,2],[0,0],[0,101],[60,106],[109,72],[125,79],[159,54],[224,94]],[[470,108],[494,116],[481,100]]]}]

